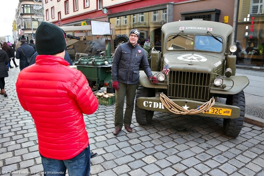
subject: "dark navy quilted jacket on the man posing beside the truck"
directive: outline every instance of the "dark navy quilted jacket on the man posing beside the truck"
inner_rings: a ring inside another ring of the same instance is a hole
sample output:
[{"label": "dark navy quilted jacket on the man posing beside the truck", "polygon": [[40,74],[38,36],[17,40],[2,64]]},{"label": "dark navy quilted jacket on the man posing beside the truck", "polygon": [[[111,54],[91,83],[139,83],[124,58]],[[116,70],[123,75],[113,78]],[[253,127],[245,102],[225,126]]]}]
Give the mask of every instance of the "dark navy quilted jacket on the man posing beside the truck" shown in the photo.
[{"label": "dark navy quilted jacket on the man posing beside the truck", "polygon": [[112,62],[112,80],[125,84],[139,82],[139,66],[143,68],[147,77],[152,73],[144,49],[138,45],[132,46],[126,42],[117,47]]}]

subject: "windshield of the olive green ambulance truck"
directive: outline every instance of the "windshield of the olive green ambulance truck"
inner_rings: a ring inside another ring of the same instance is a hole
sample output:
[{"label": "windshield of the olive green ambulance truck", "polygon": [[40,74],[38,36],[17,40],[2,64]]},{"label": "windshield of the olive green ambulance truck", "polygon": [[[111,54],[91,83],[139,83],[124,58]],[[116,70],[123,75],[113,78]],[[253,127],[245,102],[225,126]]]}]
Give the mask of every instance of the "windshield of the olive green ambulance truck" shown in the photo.
[{"label": "windshield of the olive green ambulance truck", "polygon": [[[223,41],[221,37],[214,37],[209,35],[178,35],[172,39],[175,35],[168,37],[167,50],[200,50],[200,51],[212,51],[221,52]],[[170,40],[172,39],[172,40]]]}]

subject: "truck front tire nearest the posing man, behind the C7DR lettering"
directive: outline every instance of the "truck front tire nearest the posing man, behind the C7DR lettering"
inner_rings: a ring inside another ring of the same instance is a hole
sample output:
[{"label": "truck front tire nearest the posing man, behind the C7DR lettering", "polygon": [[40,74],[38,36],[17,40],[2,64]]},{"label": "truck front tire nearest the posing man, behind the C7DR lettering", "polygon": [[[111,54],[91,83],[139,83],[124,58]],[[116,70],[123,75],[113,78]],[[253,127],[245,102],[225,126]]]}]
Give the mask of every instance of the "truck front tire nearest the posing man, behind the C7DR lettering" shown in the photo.
[{"label": "truck front tire nearest the posing man, behind the C7DR lettering", "polygon": [[138,107],[138,98],[139,97],[155,97],[155,89],[143,87],[141,84],[138,87],[135,100],[135,115],[136,120],[140,125],[150,124],[154,111],[149,111],[141,109]]}]

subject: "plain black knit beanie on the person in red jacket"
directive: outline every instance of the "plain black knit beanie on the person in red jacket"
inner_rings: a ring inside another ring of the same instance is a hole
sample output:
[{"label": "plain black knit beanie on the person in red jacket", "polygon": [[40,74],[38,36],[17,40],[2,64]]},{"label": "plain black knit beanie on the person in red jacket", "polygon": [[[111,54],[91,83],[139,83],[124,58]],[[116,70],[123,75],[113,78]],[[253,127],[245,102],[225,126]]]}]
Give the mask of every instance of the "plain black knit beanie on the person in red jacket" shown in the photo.
[{"label": "plain black knit beanie on the person in red jacket", "polygon": [[39,55],[55,55],[65,50],[63,31],[55,24],[42,22],[35,34],[35,46]]}]

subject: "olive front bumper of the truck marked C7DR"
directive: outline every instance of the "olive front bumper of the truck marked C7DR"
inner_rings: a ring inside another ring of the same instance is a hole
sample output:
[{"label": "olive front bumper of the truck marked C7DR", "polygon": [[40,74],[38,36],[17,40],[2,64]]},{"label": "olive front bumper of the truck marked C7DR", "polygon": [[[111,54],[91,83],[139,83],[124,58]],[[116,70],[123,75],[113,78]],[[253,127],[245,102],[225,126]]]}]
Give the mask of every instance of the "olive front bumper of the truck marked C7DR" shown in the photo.
[{"label": "olive front bumper of the truck marked C7DR", "polygon": [[[187,99],[171,99],[174,103],[182,107],[189,107],[190,109],[196,109],[198,106],[204,104],[204,102],[187,100]],[[163,103],[161,103],[160,97],[139,97],[137,98],[137,106],[141,109],[150,110],[150,111],[161,111],[161,112],[170,112]],[[240,108],[237,106],[226,105],[220,102],[215,102],[212,108],[218,109],[231,109],[230,114],[223,115],[222,111],[218,111],[216,114],[209,113],[197,113],[196,115],[205,116],[205,117],[216,117],[216,118],[238,118],[240,116]],[[220,112],[220,113],[219,113]]]}]

